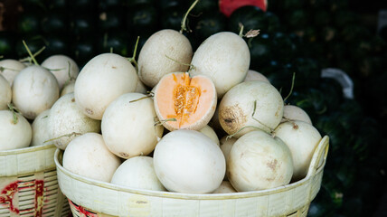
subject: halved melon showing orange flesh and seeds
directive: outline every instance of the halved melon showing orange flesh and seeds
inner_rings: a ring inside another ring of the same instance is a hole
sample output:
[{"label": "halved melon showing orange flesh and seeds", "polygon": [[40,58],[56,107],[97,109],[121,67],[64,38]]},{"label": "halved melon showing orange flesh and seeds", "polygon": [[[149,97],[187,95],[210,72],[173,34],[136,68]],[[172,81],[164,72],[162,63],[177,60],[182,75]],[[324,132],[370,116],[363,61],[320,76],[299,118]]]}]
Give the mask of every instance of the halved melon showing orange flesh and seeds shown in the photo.
[{"label": "halved melon showing orange flesh and seeds", "polygon": [[173,72],[158,82],[154,102],[157,118],[168,130],[200,130],[215,112],[217,95],[210,78],[190,78],[188,72]]}]

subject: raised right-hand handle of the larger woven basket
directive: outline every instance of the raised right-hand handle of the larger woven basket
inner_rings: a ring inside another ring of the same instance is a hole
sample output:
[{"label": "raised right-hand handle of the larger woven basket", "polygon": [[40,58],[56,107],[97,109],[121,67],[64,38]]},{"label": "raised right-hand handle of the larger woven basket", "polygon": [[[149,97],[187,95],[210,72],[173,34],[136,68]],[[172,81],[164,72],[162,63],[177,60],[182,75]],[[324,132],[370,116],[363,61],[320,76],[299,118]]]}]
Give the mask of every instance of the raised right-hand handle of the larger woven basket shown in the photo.
[{"label": "raised right-hand handle of the larger woven basket", "polygon": [[316,175],[317,170],[322,165],[325,165],[326,156],[328,155],[328,149],[329,149],[329,137],[324,136],[323,138],[321,138],[320,142],[318,143],[315,153],[313,154],[312,160],[310,161],[309,169],[307,170],[307,177]]}]

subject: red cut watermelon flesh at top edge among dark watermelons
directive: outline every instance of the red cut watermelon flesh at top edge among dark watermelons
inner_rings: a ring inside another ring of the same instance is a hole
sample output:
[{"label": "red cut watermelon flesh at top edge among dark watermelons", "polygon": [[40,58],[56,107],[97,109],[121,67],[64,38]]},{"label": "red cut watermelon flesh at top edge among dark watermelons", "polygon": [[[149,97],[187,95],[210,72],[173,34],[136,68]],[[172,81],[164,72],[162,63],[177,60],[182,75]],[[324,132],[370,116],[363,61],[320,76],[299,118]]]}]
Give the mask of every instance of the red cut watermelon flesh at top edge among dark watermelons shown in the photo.
[{"label": "red cut watermelon flesh at top edge among dark watermelons", "polygon": [[232,12],[241,6],[253,5],[258,6],[262,11],[266,11],[268,6],[267,0],[219,0],[219,9],[222,14],[230,16]]}]

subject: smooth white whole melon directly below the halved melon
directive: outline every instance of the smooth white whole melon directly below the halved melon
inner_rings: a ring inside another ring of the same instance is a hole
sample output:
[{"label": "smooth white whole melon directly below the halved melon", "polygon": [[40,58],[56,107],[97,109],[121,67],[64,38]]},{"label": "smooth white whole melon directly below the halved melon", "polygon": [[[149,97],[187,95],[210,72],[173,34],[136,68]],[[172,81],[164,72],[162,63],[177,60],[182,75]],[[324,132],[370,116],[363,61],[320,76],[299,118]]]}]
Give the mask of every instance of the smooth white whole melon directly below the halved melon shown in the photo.
[{"label": "smooth white whole melon directly below the halved melon", "polygon": [[212,193],[222,184],[226,169],[222,150],[198,131],[169,132],[153,157],[156,175],[168,191]]}]

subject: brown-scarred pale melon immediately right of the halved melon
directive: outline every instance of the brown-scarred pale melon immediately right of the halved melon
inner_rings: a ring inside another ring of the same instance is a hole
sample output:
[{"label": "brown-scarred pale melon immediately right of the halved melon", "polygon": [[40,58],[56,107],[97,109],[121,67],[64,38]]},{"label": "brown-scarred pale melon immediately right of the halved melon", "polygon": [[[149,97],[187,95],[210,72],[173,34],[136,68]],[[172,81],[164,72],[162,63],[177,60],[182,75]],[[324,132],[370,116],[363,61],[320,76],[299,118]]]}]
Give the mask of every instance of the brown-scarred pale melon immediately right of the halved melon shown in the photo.
[{"label": "brown-scarred pale melon immediately right of the halved melon", "polygon": [[271,132],[280,123],[283,112],[282,96],[273,85],[260,80],[245,81],[223,96],[219,122],[227,134],[238,138],[257,128]]}]

